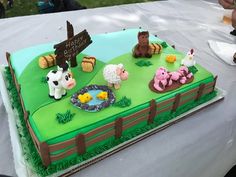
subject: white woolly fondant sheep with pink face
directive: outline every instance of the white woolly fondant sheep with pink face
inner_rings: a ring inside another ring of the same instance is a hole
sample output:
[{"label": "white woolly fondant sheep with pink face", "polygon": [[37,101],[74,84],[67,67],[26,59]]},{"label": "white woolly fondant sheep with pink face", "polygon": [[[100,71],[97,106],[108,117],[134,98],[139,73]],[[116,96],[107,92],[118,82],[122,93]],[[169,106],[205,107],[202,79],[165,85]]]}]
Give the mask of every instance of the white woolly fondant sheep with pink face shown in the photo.
[{"label": "white woolly fondant sheep with pink face", "polygon": [[128,79],[128,72],[124,69],[123,64],[109,64],[103,69],[104,79],[108,82],[109,87],[120,88],[122,80]]}]

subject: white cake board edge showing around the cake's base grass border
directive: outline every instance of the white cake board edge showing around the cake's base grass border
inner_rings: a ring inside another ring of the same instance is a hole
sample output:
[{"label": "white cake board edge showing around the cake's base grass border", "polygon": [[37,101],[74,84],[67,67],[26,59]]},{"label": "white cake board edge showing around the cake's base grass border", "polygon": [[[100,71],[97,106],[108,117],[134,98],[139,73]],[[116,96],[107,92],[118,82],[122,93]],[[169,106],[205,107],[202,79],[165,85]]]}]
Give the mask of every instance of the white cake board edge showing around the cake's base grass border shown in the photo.
[{"label": "white cake board edge showing around the cake's base grass border", "polygon": [[[0,65],[0,92],[3,98],[3,103],[4,106],[6,108],[6,111],[8,113],[8,122],[9,122],[9,129],[10,129],[10,136],[11,136],[11,143],[12,143],[12,150],[13,150],[13,157],[14,157],[14,164],[15,164],[15,169],[16,169],[16,173],[18,176],[38,176],[37,174],[35,174],[29,167],[29,164],[27,164],[27,162],[24,159],[24,155],[23,155],[23,150],[22,150],[22,146],[20,144],[20,139],[19,139],[19,134],[18,134],[18,130],[16,128],[16,124],[17,124],[17,112],[14,111],[12,109],[11,103],[10,103],[10,98],[7,92],[7,87],[4,81],[4,67],[3,65]],[[180,122],[181,120],[184,120],[186,118],[188,118],[190,115],[194,114],[195,112],[208,107],[214,103],[217,103],[218,101],[221,101],[224,99],[225,95],[226,95],[226,91],[220,89],[220,88],[216,88],[217,90],[217,96],[214,97],[213,99],[211,99],[210,101],[207,101],[183,114],[181,114],[180,116],[177,116],[176,118],[156,127],[153,128],[149,131],[147,131],[146,133],[143,133],[139,136],[136,136],[135,138],[128,140],[110,150],[107,150],[104,153],[101,153],[87,161],[84,161],[80,164],[74,165],[66,170],[54,173],[51,176],[71,176],[77,172],[79,172],[80,170],[95,164],[103,159],[105,159],[106,157],[111,156],[112,154],[115,154],[157,132],[160,132],[166,128],[168,128],[169,126]]]}]

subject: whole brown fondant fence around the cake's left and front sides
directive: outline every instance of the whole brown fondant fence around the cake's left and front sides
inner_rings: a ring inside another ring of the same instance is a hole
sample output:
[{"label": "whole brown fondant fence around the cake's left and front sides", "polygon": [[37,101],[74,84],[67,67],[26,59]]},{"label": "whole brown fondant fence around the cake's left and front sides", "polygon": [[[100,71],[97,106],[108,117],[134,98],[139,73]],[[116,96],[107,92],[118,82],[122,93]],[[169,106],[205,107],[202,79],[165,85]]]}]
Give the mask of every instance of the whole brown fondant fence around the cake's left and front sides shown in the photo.
[{"label": "whole brown fondant fence around the cake's left and front sides", "polygon": [[[29,112],[26,111],[24,103],[22,101],[20,85],[16,80],[14,70],[11,66],[9,53],[7,53],[7,61],[21,101],[21,106],[24,112],[24,119],[27,128],[45,166],[48,166],[49,164],[51,164],[51,162],[61,160],[75,153],[77,153],[78,155],[84,154],[86,152],[86,149],[91,145],[101,142],[112,136],[114,138],[120,138],[125,130],[128,130],[133,126],[138,125],[139,123],[146,122],[147,124],[152,124],[154,122],[154,118],[158,117],[158,115],[160,115],[161,113],[167,111],[175,112],[178,107],[190,101],[197,101],[203,95],[214,91],[217,80],[217,77],[215,77],[214,81],[212,82],[209,82],[207,84],[201,84],[197,88],[193,88],[185,93],[177,94],[175,95],[175,97],[172,97],[162,102],[156,103],[155,100],[151,100],[149,107],[135,112],[134,114],[117,118],[111,123],[98,127],[87,133],[80,133],[76,137],[67,141],[48,145],[47,142],[39,142],[38,138],[36,137],[34,131],[31,128],[31,125],[28,120]],[[67,150],[56,155],[52,154],[53,152],[60,151],[63,149]]]}]

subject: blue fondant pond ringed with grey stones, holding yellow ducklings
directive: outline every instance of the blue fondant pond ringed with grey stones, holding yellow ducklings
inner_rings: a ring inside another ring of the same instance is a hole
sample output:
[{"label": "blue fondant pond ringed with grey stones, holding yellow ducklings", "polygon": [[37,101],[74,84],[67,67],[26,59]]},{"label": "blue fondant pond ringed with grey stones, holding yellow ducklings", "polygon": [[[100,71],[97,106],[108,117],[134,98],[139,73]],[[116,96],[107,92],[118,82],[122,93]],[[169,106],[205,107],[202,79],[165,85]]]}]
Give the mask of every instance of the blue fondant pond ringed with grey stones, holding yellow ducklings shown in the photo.
[{"label": "blue fondant pond ringed with grey stones, holding yellow ducklings", "polygon": [[[97,95],[99,95],[101,92],[107,92],[107,99],[102,100],[97,98]],[[82,99],[79,99],[79,95],[84,94],[87,94],[88,96],[83,102]],[[89,85],[74,93],[71,96],[71,103],[82,110],[97,112],[115,103],[115,95],[107,86]]]}]

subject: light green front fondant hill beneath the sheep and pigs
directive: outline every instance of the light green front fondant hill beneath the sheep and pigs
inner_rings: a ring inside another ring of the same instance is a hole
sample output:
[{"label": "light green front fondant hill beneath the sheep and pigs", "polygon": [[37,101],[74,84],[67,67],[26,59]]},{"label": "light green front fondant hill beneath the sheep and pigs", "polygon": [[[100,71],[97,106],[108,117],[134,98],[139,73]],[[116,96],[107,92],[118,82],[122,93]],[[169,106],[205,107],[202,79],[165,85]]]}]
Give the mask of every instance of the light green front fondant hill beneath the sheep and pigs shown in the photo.
[{"label": "light green front fondant hill beneath the sheep and pigs", "polygon": [[[151,59],[153,65],[149,67],[137,66],[135,64],[137,59],[134,59],[131,53],[117,57],[111,61],[111,63],[122,62],[125,69],[129,72],[128,80],[121,83],[121,88],[119,90],[114,90],[117,100],[120,100],[124,95],[132,99],[132,104],[129,107],[120,109],[112,106],[97,113],[89,113],[73,107],[70,103],[69,97],[49,104],[45,107],[41,107],[30,119],[40,141],[51,140],[49,143],[56,143],[65,139],[70,139],[79,132],[88,132],[98,126],[109,123],[120,116],[126,116],[132,111],[135,112],[135,109],[137,110],[142,106],[147,106],[151,99],[156,99],[160,102],[173,97],[177,93],[182,93],[191,88],[198,87],[199,82],[207,83],[213,80],[213,76],[210,72],[202,68],[200,65],[197,65],[198,72],[194,75],[195,79],[193,83],[183,85],[177,90],[163,94],[157,94],[150,91],[148,83],[153,78],[156,69],[164,66],[170,71],[177,70],[180,66],[180,61],[183,58],[183,55],[176,54],[177,62],[174,64],[169,64],[165,61],[166,55],[167,54],[165,53],[162,53],[161,55],[154,55]],[[79,80],[77,80],[77,82],[79,82]],[[103,79],[102,69],[95,75],[89,84],[106,84]],[[51,117],[54,117],[58,110],[66,111],[67,109],[75,112],[75,117],[71,122],[68,122],[63,127],[57,126],[58,123]],[[55,139],[55,137],[57,138]]]}]

